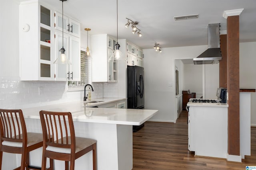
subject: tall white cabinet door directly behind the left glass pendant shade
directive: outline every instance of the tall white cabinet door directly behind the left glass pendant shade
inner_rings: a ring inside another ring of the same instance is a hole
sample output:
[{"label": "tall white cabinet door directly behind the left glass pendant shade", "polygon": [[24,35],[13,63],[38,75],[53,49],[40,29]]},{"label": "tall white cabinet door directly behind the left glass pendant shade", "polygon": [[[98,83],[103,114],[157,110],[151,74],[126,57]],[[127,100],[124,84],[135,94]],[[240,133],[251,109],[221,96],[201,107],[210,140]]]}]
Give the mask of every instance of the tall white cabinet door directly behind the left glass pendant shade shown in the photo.
[{"label": "tall white cabinet door directly behind the left glass pendant shade", "polygon": [[[63,34],[63,47],[66,50],[65,54],[67,58],[69,58],[69,42],[68,42],[68,34]],[[55,33],[55,59],[57,59],[61,53],[60,49],[62,48],[62,32]],[[67,72],[68,65],[67,64],[56,64],[56,80],[58,81],[67,81]]]}]

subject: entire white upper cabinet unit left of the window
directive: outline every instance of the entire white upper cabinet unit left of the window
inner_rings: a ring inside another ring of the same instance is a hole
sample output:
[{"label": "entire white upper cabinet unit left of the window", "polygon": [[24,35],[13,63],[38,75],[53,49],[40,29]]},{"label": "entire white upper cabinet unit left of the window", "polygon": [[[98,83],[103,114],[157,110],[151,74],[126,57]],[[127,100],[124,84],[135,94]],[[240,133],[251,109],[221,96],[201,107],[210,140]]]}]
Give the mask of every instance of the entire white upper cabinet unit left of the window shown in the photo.
[{"label": "entire white upper cabinet unit left of the window", "polygon": [[[73,80],[79,81],[80,38],[64,29],[63,46],[72,66],[54,64],[62,48],[62,29],[55,29],[54,12],[42,3],[20,2],[20,79],[67,81],[68,72],[73,72]],[[80,36],[80,24],[72,27]]]}]

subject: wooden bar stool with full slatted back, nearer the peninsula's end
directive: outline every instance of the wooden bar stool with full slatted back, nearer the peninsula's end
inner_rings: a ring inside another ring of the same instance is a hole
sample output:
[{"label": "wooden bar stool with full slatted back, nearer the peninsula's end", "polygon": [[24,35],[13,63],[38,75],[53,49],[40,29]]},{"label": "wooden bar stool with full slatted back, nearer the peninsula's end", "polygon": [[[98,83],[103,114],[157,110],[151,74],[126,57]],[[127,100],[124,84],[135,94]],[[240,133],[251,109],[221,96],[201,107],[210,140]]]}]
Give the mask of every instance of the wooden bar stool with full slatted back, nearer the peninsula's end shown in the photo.
[{"label": "wooden bar stool with full slatted back, nearer the peninsula's end", "polygon": [[65,170],[68,170],[68,162],[70,161],[70,170],[74,170],[75,160],[91,150],[93,170],[97,169],[97,141],[75,137],[70,112],[40,111],[40,119],[43,130],[42,170],[45,170],[46,158],[64,160]]}]

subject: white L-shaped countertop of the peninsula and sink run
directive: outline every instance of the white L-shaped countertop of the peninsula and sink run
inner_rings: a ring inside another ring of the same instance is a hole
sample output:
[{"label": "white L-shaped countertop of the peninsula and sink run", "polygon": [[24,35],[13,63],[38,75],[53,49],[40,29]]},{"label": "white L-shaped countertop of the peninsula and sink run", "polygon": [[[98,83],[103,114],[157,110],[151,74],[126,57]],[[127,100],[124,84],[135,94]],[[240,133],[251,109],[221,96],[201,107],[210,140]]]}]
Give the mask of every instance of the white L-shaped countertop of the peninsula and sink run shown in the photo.
[{"label": "white L-shaped countertop of the peninsula and sink run", "polygon": [[[106,100],[106,98],[104,98]],[[120,98],[116,100],[106,100],[106,103],[115,102],[118,100],[124,100]],[[100,99],[97,99],[100,100]],[[100,100],[102,101],[102,100]],[[106,104],[100,103],[100,104]],[[68,102],[63,104],[53,104],[48,106],[39,106],[32,108],[22,109],[25,118],[40,119],[39,111],[69,111],[72,113],[73,121],[90,122],[90,123],[110,123],[120,125],[141,125],[158,110],[147,110],[147,109],[116,109],[116,108],[94,108],[93,105],[97,106],[99,103],[93,103],[88,106],[88,103],[79,102]]]}]

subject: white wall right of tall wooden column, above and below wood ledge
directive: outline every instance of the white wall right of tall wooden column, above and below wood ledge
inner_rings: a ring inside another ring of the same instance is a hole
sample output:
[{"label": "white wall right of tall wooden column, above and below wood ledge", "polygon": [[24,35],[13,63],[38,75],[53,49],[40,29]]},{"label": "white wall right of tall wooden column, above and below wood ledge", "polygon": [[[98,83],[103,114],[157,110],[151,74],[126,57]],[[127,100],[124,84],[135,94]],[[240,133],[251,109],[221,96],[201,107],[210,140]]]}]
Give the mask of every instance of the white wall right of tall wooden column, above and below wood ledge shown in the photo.
[{"label": "white wall right of tall wooden column, above and below wood ledge", "polygon": [[[256,88],[256,42],[240,43],[240,88]],[[251,93],[251,125],[256,126],[256,93]]]}]

